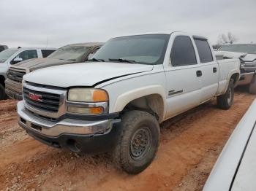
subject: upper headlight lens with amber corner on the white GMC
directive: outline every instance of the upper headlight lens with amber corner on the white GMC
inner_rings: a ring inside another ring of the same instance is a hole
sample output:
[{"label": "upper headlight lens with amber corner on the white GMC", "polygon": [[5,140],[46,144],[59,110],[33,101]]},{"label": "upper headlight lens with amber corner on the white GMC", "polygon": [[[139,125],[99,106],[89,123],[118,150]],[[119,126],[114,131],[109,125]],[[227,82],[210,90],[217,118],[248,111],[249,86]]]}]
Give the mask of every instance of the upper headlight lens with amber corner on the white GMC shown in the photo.
[{"label": "upper headlight lens with amber corner on the white GMC", "polygon": [[108,101],[108,93],[105,90],[93,88],[72,88],[69,90],[68,100],[82,102]]}]

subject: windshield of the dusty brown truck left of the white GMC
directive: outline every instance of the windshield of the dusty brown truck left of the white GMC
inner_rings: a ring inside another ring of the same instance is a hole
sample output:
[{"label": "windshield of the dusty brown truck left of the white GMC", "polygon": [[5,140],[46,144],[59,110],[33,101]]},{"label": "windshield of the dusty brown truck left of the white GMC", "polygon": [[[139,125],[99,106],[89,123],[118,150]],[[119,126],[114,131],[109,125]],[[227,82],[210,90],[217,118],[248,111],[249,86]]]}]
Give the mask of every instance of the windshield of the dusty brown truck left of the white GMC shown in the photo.
[{"label": "windshield of the dusty brown truck left of the white GMC", "polygon": [[89,50],[89,47],[65,46],[60,47],[47,58],[66,61],[78,61]]}]

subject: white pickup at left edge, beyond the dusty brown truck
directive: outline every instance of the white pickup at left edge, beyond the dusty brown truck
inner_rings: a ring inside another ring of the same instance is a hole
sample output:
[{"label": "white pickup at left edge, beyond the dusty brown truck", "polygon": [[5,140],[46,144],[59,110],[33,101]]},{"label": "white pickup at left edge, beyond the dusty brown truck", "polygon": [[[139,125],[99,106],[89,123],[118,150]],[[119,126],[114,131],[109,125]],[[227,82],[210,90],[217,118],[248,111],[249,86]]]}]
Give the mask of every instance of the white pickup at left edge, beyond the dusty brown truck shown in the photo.
[{"label": "white pickup at left edge, beyond the dusty brown truck", "polygon": [[55,48],[23,47],[9,48],[0,52],[0,100],[6,98],[4,80],[10,66],[31,58],[43,58],[54,52]]}]

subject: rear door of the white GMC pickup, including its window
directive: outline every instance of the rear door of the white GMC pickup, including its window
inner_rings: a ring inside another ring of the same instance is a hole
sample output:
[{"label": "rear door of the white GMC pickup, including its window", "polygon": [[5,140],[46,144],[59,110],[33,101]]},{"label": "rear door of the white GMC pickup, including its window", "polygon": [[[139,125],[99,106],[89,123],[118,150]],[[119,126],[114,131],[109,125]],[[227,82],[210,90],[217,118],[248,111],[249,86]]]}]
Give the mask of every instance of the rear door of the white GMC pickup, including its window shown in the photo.
[{"label": "rear door of the white GMC pickup, including its window", "polygon": [[200,36],[193,36],[193,38],[197,47],[202,71],[202,95],[200,102],[203,103],[217,94],[219,66],[212,55],[208,40]]}]

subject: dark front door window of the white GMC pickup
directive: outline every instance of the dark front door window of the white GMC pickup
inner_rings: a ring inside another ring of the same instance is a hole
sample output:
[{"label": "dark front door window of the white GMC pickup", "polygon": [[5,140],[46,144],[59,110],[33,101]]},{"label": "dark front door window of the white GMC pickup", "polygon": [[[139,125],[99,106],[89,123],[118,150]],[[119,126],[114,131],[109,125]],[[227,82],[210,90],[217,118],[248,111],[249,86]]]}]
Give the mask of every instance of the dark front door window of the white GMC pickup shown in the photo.
[{"label": "dark front door window of the white GMC pickup", "polygon": [[197,64],[195,50],[189,36],[177,36],[174,39],[170,59],[173,66]]}]

